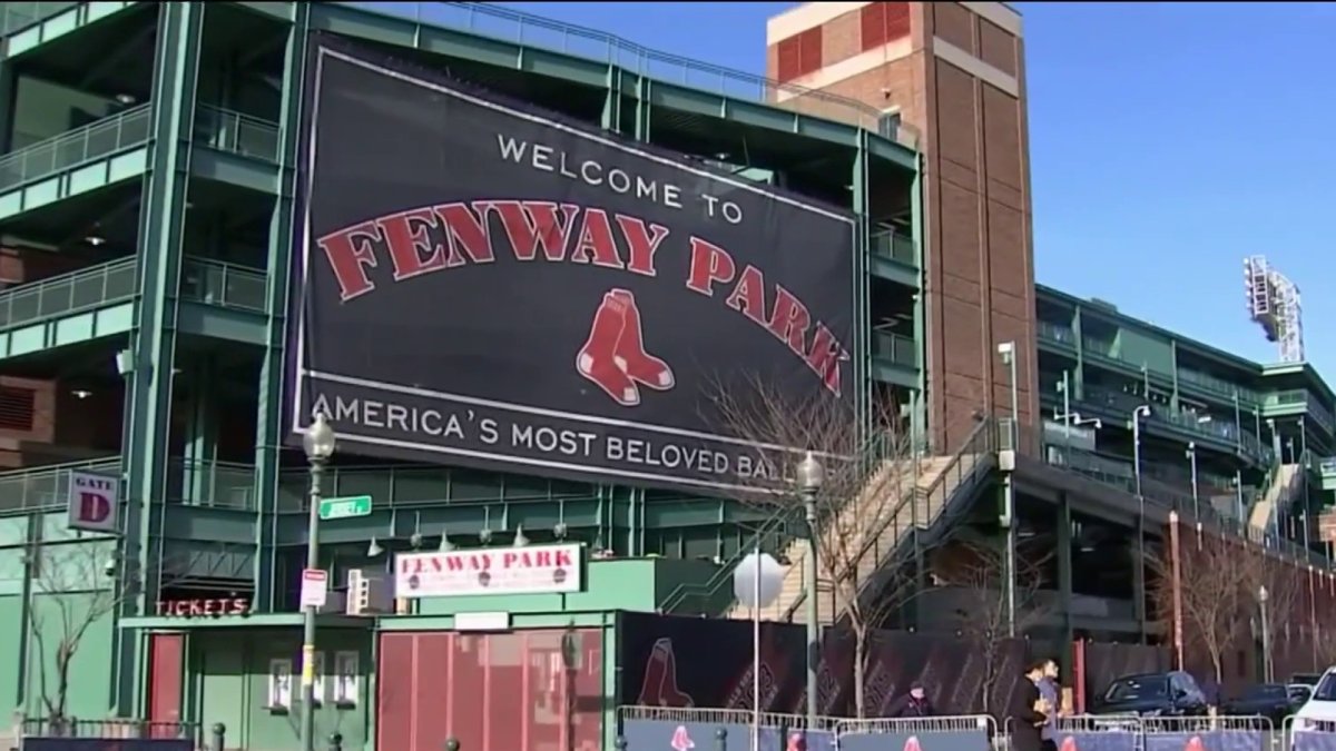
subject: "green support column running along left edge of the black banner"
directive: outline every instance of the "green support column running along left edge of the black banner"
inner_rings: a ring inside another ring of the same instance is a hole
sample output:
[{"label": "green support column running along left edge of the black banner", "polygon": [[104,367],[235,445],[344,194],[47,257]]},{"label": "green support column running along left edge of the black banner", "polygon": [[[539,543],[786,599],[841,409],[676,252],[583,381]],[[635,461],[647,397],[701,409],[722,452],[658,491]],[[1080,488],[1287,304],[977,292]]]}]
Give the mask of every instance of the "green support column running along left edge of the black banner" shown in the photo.
[{"label": "green support column running along left edge of the black banner", "polygon": [[267,612],[274,607],[279,591],[274,581],[275,556],[274,528],[278,524],[278,452],[283,445],[283,343],[287,335],[289,275],[293,258],[293,203],[298,179],[298,144],[302,139],[302,83],[306,78],[306,41],[310,35],[311,5],[297,3],[293,8],[293,28],[283,56],[283,100],[278,163],[278,198],[269,229],[269,326],[265,341],[265,359],[259,371],[259,414],[255,436],[255,609]]}]

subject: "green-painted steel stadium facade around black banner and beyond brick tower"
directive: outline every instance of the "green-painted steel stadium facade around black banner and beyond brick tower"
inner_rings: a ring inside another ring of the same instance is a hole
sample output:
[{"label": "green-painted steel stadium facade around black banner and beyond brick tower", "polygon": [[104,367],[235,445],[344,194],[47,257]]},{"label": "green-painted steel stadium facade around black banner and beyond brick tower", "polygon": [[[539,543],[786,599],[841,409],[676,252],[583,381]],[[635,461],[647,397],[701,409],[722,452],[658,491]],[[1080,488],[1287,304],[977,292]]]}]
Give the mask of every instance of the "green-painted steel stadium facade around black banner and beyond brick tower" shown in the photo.
[{"label": "green-painted steel stadium facade around black banner and beyond brick tower", "polygon": [[[35,682],[49,669],[33,665],[49,664],[51,655],[35,648],[27,613],[55,605],[37,591],[31,561],[68,557],[94,563],[84,588],[63,596],[99,601],[98,592],[111,592],[116,607],[79,641],[67,714],[144,716],[148,635],[183,629],[184,719],[222,722],[232,743],[251,747],[294,738],[294,718],[266,710],[263,682],[269,660],[298,643],[291,589],[306,541],[306,468],[279,448],[278,405],[294,124],[310,32],[449,65],[466,80],[752,179],[847,191],[860,218],[851,279],[862,322],[859,401],[896,400],[914,430],[929,434],[919,159],[894,120],[824,94],[771,107],[763,102],[774,84],[762,79],[498,7],[395,7],[402,15],[343,3],[0,3],[3,245],[80,262],[33,271],[0,291],[0,376],[57,378],[59,425],[112,426],[60,428],[64,454],[0,473],[0,599],[9,605],[0,608],[0,708],[9,702],[43,712]],[[1166,390],[1177,410],[1166,414],[1208,404],[1212,425],[1233,422],[1241,432],[1222,436],[1177,417],[1157,429],[1198,441],[1214,452],[1210,472],[1237,472],[1256,489],[1291,438],[1301,442],[1300,456],[1317,457],[1313,466],[1336,454],[1336,404],[1311,369],[1248,363],[1055,290],[1041,287],[1038,298],[1047,408],[1063,370],[1077,409],[1092,414],[1112,409],[1094,394],[1113,377]],[[90,396],[69,402],[65,390]],[[99,404],[99,417],[87,417]],[[1279,441],[1265,433],[1268,420]],[[1125,486],[1125,454],[1067,465]],[[1154,458],[1182,464],[1170,453]],[[1118,466],[1100,464],[1106,461]],[[126,537],[114,549],[67,539],[73,470],[123,480]],[[1323,477],[1329,496],[1336,470]],[[484,532],[504,543],[522,527],[544,543],[560,527],[568,540],[616,553],[619,560],[591,563],[587,593],[504,603],[516,628],[604,628],[608,660],[613,611],[719,613],[731,600],[731,564],[756,531],[775,551],[794,532],[792,520],[721,498],[346,457],[329,469],[326,493],[373,498],[369,516],[322,528],[322,560],[335,583],[350,568],[383,565],[414,536],[466,547]],[[387,552],[369,557],[373,539]],[[103,555],[112,564],[106,569],[96,564]],[[191,624],[152,615],[164,589],[199,581],[253,589],[257,613]],[[450,628],[456,612],[498,607],[457,600],[375,624],[327,619],[329,647],[322,641],[321,649],[358,651],[365,680],[355,707],[321,708],[319,730],[342,732],[345,748],[370,747],[375,628]],[[605,675],[615,667],[609,661]]]}]

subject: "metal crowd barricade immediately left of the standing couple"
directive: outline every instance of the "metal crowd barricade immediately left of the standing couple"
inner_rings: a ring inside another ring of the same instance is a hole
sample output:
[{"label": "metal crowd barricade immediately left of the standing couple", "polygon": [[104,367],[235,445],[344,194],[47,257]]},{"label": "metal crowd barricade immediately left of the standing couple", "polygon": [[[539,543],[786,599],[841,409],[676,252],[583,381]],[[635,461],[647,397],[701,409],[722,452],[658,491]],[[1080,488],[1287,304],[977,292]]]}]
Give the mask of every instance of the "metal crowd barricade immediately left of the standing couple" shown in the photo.
[{"label": "metal crowd barricade immediately left of the standing couple", "polygon": [[[997,722],[989,715],[839,720],[839,751],[990,751]],[[811,748],[811,746],[808,746]]]}]

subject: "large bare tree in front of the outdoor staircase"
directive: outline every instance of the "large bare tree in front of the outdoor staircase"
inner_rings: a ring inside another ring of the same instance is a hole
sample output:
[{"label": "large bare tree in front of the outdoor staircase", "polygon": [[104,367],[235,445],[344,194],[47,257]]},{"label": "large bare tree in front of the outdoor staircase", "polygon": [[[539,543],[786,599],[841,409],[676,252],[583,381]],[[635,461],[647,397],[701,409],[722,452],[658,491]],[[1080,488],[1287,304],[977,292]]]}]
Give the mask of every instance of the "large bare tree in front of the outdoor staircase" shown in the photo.
[{"label": "large bare tree in front of the outdoor staircase", "polygon": [[[912,597],[914,577],[902,571],[914,557],[906,543],[929,521],[930,509],[918,492],[927,477],[911,456],[902,418],[895,405],[859,417],[830,394],[794,400],[756,378],[741,388],[719,389],[713,401],[728,433],[760,446],[749,461],[764,469],[737,477],[739,501],[796,516],[807,500],[794,481],[803,458],[798,449],[814,452],[824,464],[823,482],[812,489],[816,573],[823,583],[818,601],[822,620],[843,617],[852,632],[854,708],[864,716],[870,635]],[[806,540],[795,540],[784,555],[792,565],[783,595],[767,612],[778,620],[802,616],[803,567],[811,565]]]}]

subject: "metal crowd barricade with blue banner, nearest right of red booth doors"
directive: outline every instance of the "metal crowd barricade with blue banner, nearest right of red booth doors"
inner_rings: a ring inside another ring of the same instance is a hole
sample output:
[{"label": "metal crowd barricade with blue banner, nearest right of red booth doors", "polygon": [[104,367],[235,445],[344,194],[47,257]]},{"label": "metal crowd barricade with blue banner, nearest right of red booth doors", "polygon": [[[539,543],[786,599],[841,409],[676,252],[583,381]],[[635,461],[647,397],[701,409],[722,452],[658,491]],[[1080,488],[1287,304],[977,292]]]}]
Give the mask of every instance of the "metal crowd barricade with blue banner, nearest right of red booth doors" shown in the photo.
[{"label": "metal crowd barricade with blue banner, nearest right of red booth doors", "polygon": [[[756,719],[749,710],[617,707],[617,727],[627,751],[749,751]],[[787,751],[792,746],[807,751],[836,750],[836,718],[816,718],[811,727],[804,715],[762,712],[759,719],[759,751]]]}]

